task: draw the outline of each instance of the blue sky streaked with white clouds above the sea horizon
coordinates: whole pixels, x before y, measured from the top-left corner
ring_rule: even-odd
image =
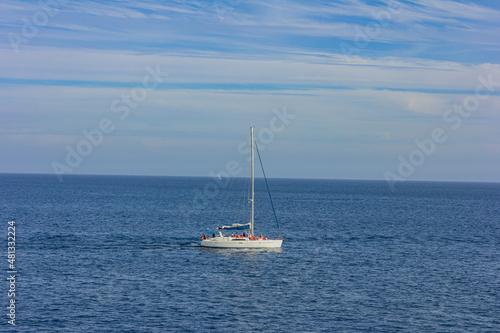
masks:
[[[499,182],[499,17],[493,0],[2,0],[0,172],[239,176],[255,126],[268,177]]]

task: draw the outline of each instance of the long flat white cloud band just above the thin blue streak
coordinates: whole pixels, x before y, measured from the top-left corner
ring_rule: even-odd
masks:
[[[500,76],[500,65],[464,65],[423,59],[289,56],[286,60],[198,56],[143,55],[135,52],[27,48],[19,55],[1,50],[4,78],[141,83],[146,68],[160,65],[167,83],[219,83],[331,86],[343,88],[470,90],[479,76]],[[64,83],[63,83],[64,84]]]

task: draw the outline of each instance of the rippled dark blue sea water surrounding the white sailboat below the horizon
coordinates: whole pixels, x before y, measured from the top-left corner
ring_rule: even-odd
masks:
[[[500,331],[500,184],[269,183],[283,248],[211,250],[212,179],[0,175],[0,331]],[[256,203],[257,233],[276,235],[262,180]]]

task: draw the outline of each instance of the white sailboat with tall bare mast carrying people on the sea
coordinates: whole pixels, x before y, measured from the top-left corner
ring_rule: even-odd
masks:
[[[234,248],[242,248],[242,249],[266,249],[266,248],[281,248],[281,243],[283,243],[283,239],[269,239],[267,237],[255,237],[254,236],[254,207],[255,207],[255,190],[254,190],[254,183],[255,183],[255,173],[254,173],[254,134],[253,134],[253,127],[250,127],[250,170],[251,170],[251,210],[250,210],[250,222],[241,224],[241,223],[233,223],[230,226],[221,226],[217,228],[217,235],[215,232],[213,232],[212,236],[202,236],[201,240],[201,246],[202,247],[212,247],[212,248],[228,248],[228,249],[234,249]],[[258,149],[258,147],[257,147]],[[257,150],[258,152],[258,150]],[[260,159],[260,153],[259,153],[259,159]],[[262,162],[261,162],[262,163]],[[262,171],[264,171],[264,168],[262,168]],[[265,178],[265,173],[264,173],[264,179]],[[267,179],[266,179],[266,185],[267,185]],[[269,186],[267,186],[267,189],[269,191]],[[269,192],[269,198],[271,199],[271,193]],[[274,205],[272,204],[272,199],[271,199],[271,205],[273,207],[274,211]],[[275,217],[276,217],[276,212],[275,212]],[[276,221],[278,219],[276,218]],[[279,224],[278,224],[279,225]],[[238,236],[235,235],[224,235],[222,231],[237,231],[237,232],[242,232],[243,236]]]

